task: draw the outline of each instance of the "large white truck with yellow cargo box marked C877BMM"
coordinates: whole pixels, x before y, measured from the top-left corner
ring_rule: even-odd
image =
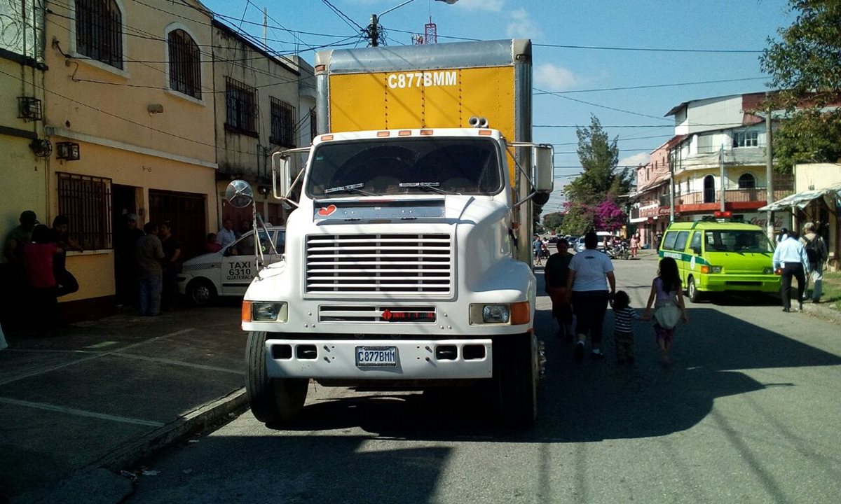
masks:
[[[304,168],[272,156],[297,206],[285,255],[242,305],[254,416],[292,420],[315,380],[486,386],[505,423],[532,424],[532,219],[553,152],[532,144],[531,42],[332,50],[315,72]]]

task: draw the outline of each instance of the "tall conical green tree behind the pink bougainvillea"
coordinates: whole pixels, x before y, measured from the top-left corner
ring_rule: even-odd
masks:
[[[618,168],[618,137],[608,137],[595,116],[590,116],[590,127],[577,128],[578,155],[581,174],[563,188],[567,197],[567,212],[563,219],[563,232],[583,234],[595,226],[595,208],[606,201],[615,201],[613,195],[626,194],[631,189],[632,173]]]

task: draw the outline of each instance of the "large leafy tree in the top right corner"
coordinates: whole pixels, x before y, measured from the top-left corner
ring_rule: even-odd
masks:
[[[770,106],[787,118],[776,132],[781,171],[798,162],[841,159],[841,111],[828,109],[841,96],[841,0],[789,0],[796,13],[780,39],[768,39],[759,60],[776,92]]]

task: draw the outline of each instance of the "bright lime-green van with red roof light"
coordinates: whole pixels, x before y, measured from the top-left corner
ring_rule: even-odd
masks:
[[[660,242],[660,257],[678,263],[691,302],[705,293],[780,291],[772,266],[774,246],[754,224],[700,220],[671,223]]]

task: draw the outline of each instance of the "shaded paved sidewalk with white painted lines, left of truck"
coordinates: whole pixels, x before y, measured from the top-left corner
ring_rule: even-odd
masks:
[[[247,407],[240,307],[123,313],[0,351],[0,503],[118,502],[120,470]]]

